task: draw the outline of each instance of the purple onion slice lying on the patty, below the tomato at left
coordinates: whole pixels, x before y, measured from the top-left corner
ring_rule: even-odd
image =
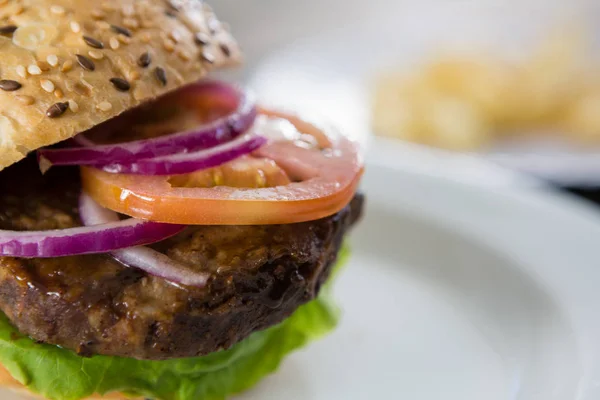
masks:
[[[183,228],[182,225],[130,218],[123,221],[117,219],[93,227],[49,231],[0,231],[0,255],[50,258],[106,253],[159,242],[181,232]]]

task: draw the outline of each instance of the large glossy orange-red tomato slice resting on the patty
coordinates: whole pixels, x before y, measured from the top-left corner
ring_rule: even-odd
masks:
[[[260,184],[248,183],[256,175],[248,175],[247,171],[256,171],[252,164],[257,161],[241,159],[225,170],[235,172],[236,166],[248,162],[246,172],[238,170],[229,181],[221,182],[213,176],[212,184],[202,173],[195,178],[194,174],[134,176],[82,167],[83,188],[111,210],[174,224],[289,224],[324,218],[343,209],[352,200],[363,172],[358,146],[341,135],[328,136],[296,116],[270,110],[261,113],[288,120],[299,132],[311,135],[326,147],[310,148],[292,141],[267,144],[254,154],[263,159],[262,173],[271,179]],[[276,166],[265,167],[269,162],[265,164],[264,159]],[[285,173],[277,172],[281,170]],[[223,186],[240,184],[246,187]]]

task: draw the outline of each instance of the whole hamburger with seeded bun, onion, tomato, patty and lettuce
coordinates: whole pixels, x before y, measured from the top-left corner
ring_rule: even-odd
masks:
[[[222,399],[328,332],[355,143],[209,80],[198,0],[0,0],[0,383]]]

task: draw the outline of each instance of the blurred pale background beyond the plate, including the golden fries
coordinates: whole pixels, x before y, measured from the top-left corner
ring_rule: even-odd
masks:
[[[600,198],[597,0],[214,7],[246,54],[232,74],[265,103],[326,116],[370,154],[477,157]]]

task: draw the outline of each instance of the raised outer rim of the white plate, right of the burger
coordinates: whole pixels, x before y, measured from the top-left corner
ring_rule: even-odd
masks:
[[[400,149],[401,153],[398,153]],[[377,156],[373,156],[374,153]],[[404,157],[405,154],[411,156]],[[542,280],[543,287],[560,299],[559,305],[576,331],[579,355],[584,357],[584,375],[579,380],[576,400],[600,398],[600,344],[596,339],[600,337],[600,318],[597,318],[600,309],[594,307],[593,301],[600,304],[600,291],[595,290],[600,286],[600,270],[594,265],[594,260],[600,260],[600,246],[592,240],[565,242],[569,235],[577,239],[591,234],[600,237],[597,207],[478,157],[432,152],[381,138],[371,142],[367,170],[369,165],[391,169],[402,180],[418,182],[422,186],[421,194],[411,201],[423,213],[429,213],[429,218],[479,243],[483,241],[493,250],[510,254],[528,269],[527,272]],[[478,172],[473,173],[474,170]],[[448,209],[440,206],[441,202],[438,205],[427,203],[424,193],[432,189],[445,190],[446,193],[450,190],[488,207],[497,206],[506,212],[528,215],[531,221],[508,221],[508,225],[519,229],[507,235],[494,229],[491,220],[466,218],[469,215],[481,216],[474,210],[455,209],[454,215],[449,215]],[[434,212],[435,208],[437,211]],[[542,220],[560,222],[560,229],[547,230],[531,225]],[[528,229],[523,229],[525,226]],[[528,243],[539,245],[539,240],[532,239],[532,232],[543,235],[547,243],[545,254],[527,250]],[[587,257],[582,257],[582,254]],[[592,257],[594,255],[596,257]],[[560,260],[567,256],[573,256],[580,264],[562,267],[560,261],[553,264],[553,258]],[[566,282],[570,284],[565,285]]]

